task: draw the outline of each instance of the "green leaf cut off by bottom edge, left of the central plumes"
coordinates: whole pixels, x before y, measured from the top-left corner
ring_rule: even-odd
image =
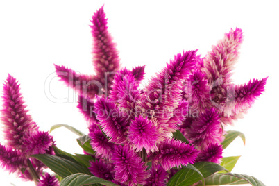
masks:
[[[117,186],[117,184],[104,180],[102,178],[98,178],[96,176],[90,176],[87,174],[81,174],[81,173],[67,176],[62,180],[60,186],[82,186],[82,185],[89,185],[89,184],[96,184],[96,183],[100,183],[102,185],[107,185],[107,186]]]

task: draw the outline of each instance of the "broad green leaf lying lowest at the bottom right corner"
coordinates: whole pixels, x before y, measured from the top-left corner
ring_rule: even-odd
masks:
[[[205,178],[206,185],[237,185],[237,184],[248,184],[253,186],[265,186],[260,180],[253,176],[245,174],[213,174]]]

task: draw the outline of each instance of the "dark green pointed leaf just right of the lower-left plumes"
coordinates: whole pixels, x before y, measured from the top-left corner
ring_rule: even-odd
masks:
[[[43,162],[47,167],[49,167],[49,169],[51,169],[51,171],[55,172],[62,178],[75,173],[91,174],[86,167],[82,167],[75,162],[71,162],[56,155],[36,154],[31,156]]]

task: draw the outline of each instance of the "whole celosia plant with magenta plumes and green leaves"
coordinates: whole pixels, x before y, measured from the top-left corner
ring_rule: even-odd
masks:
[[[230,173],[237,159],[222,156],[235,137],[245,139],[224,129],[251,107],[267,81],[231,83],[241,29],[226,33],[203,58],[197,50],[178,53],[140,90],[144,66],[120,67],[103,7],[93,15],[91,28],[96,75],[77,76],[56,65],[61,81],[79,94],[89,133],[67,125],[51,128],[65,126],[81,135],[77,141],[84,154],[58,149],[53,137],[39,130],[27,114],[19,83],[8,75],[1,110],[3,169],[40,186],[264,185],[253,176]],[[55,174],[45,172],[47,167]]]

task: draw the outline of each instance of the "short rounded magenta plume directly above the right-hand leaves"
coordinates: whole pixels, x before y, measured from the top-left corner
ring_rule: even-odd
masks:
[[[219,114],[211,108],[199,115],[198,119],[192,123],[188,135],[193,144],[203,149],[208,144],[221,143],[222,131]]]

